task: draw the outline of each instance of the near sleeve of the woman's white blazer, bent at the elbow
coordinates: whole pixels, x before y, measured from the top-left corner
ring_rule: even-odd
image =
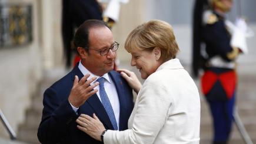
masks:
[[[137,105],[134,108],[132,129],[121,132],[108,130],[104,143],[154,143],[159,131],[167,119],[172,99],[161,82],[147,79],[139,91]]]

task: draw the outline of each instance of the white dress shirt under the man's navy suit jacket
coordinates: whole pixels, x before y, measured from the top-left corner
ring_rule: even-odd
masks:
[[[117,94],[117,89],[115,88],[115,84],[112,81],[112,79],[109,77],[108,73],[105,73],[101,77],[97,76],[97,75],[94,75],[93,73],[88,71],[88,69],[85,68],[84,65],[82,65],[81,61],[79,62],[78,68],[82,72],[83,75],[90,74],[88,79],[91,79],[94,76],[97,77],[97,79],[101,78],[101,77],[103,77],[105,79],[104,88],[105,88],[105,91],[108,95],[108,99],[111,103],[112,109],[114,111],[115,120],[117,121],[117,126],[118,126],[118,129],[119,129],[119,113],[120,113],[119,98],[118,98],[118,94]],[[93,81],[91,83],[91,85],[93,83],[95,83],[97,81],[97,79],[95,81]],[[99,100],[101,101],[101,97],[99,96],[99,85],[96,86],[94,89],[98,89],[97,96],[98,96]],[[70,105],[71,105],[71,103],[70,103]],[[75,112],[77,112],[78,108],[75,108],[74,106],[72,106],[72,108]]]

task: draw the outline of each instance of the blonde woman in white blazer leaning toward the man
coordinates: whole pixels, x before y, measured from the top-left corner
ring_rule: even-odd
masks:
[[[81,115],[78,129],[106,143],[199,143],[200,96],[197,86],[176,58],[179,51],[167,22],[152,20],[135,28],[125,42],[145,79],[134,72],[121,75],[138,94],[124,131],[107,130],[96,115]]]

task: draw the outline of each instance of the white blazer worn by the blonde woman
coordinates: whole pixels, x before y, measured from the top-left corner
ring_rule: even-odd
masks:
[[[138,93],[128,130],[107,130],[105,144],[199,143],[200,96],[178,59],[152,73]]]

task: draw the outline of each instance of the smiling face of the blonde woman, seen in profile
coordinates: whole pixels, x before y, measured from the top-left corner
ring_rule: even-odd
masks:
[[[147,79],[159,66],[158,60],[161,52],[156,52],[155,49],[153,49],[153,51],[141,51],[137,49],[131,52],[131,66],[136,66],[136,68],[139,69],[142,79]]]

